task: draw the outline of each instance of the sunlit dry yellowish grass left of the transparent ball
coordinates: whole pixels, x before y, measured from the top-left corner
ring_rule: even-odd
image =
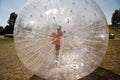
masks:
[[[18,59],[13,39],[0,39],[0,80],[28,80],[31,75]]]

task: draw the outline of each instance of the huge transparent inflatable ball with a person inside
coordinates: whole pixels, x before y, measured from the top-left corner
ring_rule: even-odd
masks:
[[[29,0],[14,42],[22,63],[47,80],[77,80],[93,72],[108,44],[106,18],[93,0]]]

